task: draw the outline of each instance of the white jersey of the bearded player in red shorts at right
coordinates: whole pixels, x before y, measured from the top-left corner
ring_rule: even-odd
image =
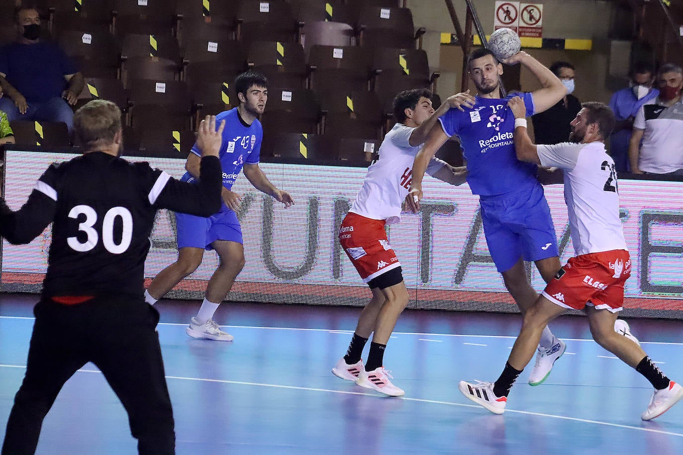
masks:
[[[564,199],[576,255],[628,250],[619,220],[614,160],[604,144],[538,145],[542,166],[564,170]]]

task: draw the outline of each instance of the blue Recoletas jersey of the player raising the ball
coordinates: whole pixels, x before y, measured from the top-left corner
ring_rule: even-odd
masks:
[[[460,138],[473,194],[494,196],[539,185],[536,165],[517,160],[515,154],[514,115],[507,106],[512,96],[522,97],[527,117],[535,113],[531,93],[515,93],[495,99],[477,96],[473,108],[451,109],[438,119],[447,136]]]

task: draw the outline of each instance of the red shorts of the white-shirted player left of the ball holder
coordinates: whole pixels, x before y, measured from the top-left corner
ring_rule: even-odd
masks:
[[[389,246],[385,224],[349,212],[339,228],[339,243],[364,283],[401,265]]]

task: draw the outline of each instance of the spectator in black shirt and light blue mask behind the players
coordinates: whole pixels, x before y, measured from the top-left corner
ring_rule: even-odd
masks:
[[[581,102],[572,95],[574,91],[574,66],[566,61],[556,61],[550,71],[567,88],[567,94],[547,111],[531,117],[533,134],[537,144],[559,144],[567,142],[572,132],[570,123],[581,111]]]

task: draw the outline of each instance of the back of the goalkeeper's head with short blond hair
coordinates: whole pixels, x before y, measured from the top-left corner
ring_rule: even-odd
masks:
[[[113,143],[121,131],[121,109],[107,100],[92,100],[74,114],[76,143],[93,149]]]

